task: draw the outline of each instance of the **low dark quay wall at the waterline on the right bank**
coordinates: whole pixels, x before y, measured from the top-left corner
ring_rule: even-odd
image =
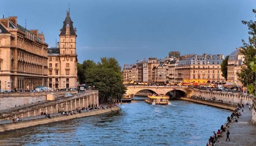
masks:
[[[219,107],[219,108],[223,108],[223,109],[231,110],[231,111],[236,110],[236,105],[227,104],[227,103],[219,103],[219,102],[214,102],[214,101],[209,101],[209,100],[207,101],[207,100],[203,100],[203,99],[193,99],[193,98],[185,98],[185,97],[180,97],[180,99],[191,101],[191,102],[194,102],[194,103],[211,105],[211,106],[214,106],[214,107]]]

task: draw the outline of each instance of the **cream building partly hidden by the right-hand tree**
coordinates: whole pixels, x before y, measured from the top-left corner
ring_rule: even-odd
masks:
[[[227,61],[227,84],[228,85],[237,85],[238,87],[242,87],[241,81],[238,80],[238,75],[241,71],[242,66],[245,66],[243,63],[244,55],[241,54],[241,49],[236,48],[229,55],[229,59]]]

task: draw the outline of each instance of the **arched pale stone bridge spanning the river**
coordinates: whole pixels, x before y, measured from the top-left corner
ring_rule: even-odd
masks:
[[[192,93],[193,89],[182,87],[182,86],[126,86],[127,91],[126,94],[129,95],[136,95],[139,91],[147,90],[151,93],[157,93],[157,94],[163,94],[167,95],[167,93],[172,92],[172,96],[176,97],[176,95],[179,93],[180,96],[186,97],[189,96]]]

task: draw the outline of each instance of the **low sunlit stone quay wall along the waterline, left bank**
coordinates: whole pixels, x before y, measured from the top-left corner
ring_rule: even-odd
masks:
[[[116,112],[119,110],[120,110],[119,107],[115,107],[115,108],[111,108],[111,109],[109,108],[106,110],[97,110],[97,111],[92,111],[92,112],[81,112],[80,114],[77,113],[77,114],[68,115],[68,116],[65,116],[65,115],[52,116],[51,119],[44,117],[44,118],[39,118],[39,119],[21,121],[21,122],[17,122],[17,123],[0,124],[0,133],[12,131],[12,130],[18,130],[18,129],[22,129],[22,128],[40,126],[43,124],[57,123],[57,122],[61,122],[64,120],[70,120],[70,119],[81,118],[81,117],[86,117],[86,116],[106,114],[106,113],[110,113],[110,112]]]

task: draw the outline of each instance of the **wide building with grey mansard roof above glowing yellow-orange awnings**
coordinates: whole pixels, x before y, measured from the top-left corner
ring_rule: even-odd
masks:
[[[188,55],[178,62],[178,78],[183,83],[225,83],[221,63],[223,55]]]

